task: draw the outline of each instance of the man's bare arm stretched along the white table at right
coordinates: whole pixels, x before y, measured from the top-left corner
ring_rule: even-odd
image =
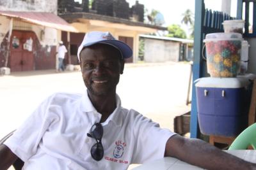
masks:
[[[184,138],[179,135],[168,139],[164,156],[176,157],[205,169],[256,169],[256,164],[223,152],[205,141]]]

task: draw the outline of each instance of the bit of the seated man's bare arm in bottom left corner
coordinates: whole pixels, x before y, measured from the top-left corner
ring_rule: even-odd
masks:
[[[8,169],[18,157],[5,145],[0,145],[0,170]]]

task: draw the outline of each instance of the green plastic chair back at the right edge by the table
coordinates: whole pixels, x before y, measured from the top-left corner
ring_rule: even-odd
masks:
[[[228,150],[246,150],[248,146],[256,149],[256,123],[244,129],[233,141]]]

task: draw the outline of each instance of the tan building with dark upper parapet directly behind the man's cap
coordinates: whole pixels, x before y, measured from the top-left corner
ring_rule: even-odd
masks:
[[[75,27],[78,33],[62,32],[65,42],[69,37],[70,62],[77,64],[76,52],[83,35],[89,31],[109,31],[116,39],[124,41],[133,50],[133,57],[125,62],[137,62],[139,53],[139,35],[156,32],[166,27],[145,24],[144,5],[136,1],[129,7],[125,0],[94,0],[92,7],[88,6],[88,0],[81,4],[74,0],[58,1],[58,15]]]

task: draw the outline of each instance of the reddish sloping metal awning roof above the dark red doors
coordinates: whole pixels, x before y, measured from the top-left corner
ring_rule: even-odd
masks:
[[[61,31],[78,32],[72,25],[58,17],[54,13],[47,12],[26,12],[26,11],[0,11],[0,15],[17,18],[36,25],[60,29]]]

